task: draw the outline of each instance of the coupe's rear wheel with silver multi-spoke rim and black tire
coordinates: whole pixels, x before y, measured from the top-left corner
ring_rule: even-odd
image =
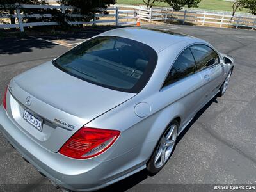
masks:
[[[164,130],[159,138],[152,156],[147,163],[148,175],[155,175],[167,163],[175,149],[177,134],[179,130],[179,122],[173,120]]]

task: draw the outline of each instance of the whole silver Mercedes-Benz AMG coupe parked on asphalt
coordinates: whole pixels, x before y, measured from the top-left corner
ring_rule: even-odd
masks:
[[[154,175],[195,114],[225,93],[233,67],[198,38],[114,29],[14,77],[0,130],[63,189],[93,191],[145,168]]]

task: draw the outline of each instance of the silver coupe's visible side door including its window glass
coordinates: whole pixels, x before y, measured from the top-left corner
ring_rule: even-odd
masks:
[[[218,93],[221,86],[221,76],[223,75],[223,65],[220,63],[216,51],[207,45],[196,44],[191,46],[190,49],[202,78],[201,104],[204,105]]]

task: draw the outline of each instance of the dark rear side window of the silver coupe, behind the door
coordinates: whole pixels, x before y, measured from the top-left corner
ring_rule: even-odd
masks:
[[[163,87],[172,84],[184,77],[188,77],[197,71],[196,63],[190,49],[185,49],[173,63],[173,66],[166,77]]]

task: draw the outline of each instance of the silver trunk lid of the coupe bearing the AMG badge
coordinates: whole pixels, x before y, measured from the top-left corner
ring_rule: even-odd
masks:
[[[15,77],[9,90],[10,118],[31,139],[52,152],[58,152],[83,125],[135,95],[77,79],[51,62]],[[26,103],[28,97],[31,97],[29,106]],[[24,120],[24,109],[43,119],[42,131]]]

